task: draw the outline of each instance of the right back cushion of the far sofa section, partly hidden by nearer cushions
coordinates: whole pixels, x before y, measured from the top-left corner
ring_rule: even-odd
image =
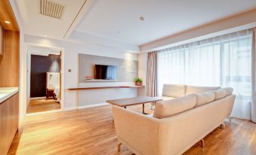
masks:
[[[186,96],[192,93],[205,93],[211,90],[218,90],[221,87],[199,87],[199,86],[187,86]]]

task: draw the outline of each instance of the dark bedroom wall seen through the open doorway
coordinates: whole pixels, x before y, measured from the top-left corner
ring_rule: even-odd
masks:
[[[60,55],[31,55],[30,97],[46,96],[46,72],[60,72]]]

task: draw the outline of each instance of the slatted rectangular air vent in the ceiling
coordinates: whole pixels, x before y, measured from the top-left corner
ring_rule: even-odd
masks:
[[[64,5],[60,5],[57,2],[40,0],[40,14],[42,15],[60,19],[64,8]]]

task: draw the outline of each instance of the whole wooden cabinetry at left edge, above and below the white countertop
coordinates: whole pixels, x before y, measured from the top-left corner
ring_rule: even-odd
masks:
[[[10,23],[5,23],[8,20]],[[20,32],[9,0],[0,0],[0,87],[19,87]],[[4,30],[3,30],[3,29]],[[1,53],[4,53],[1,55]],[[13,93],[11,93],[13,94]],[[2,96],[1,96],[2,97]],[[14,94],[0,102],[0,155],[5,155],[18,129],[19,95]]]

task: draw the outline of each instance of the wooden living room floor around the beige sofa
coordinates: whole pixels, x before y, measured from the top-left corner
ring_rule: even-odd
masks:
[[[133,110],[141,112],[140,106]],[[204,140],[204,148],[195,144],[184,154],[256,154],[256,124],[233,119],[226,122],[226,129],[214,129]],[[106,105],[26,116],[8,154],[132,154],[125,146],[118,153],[117,144],[110,106]]]

